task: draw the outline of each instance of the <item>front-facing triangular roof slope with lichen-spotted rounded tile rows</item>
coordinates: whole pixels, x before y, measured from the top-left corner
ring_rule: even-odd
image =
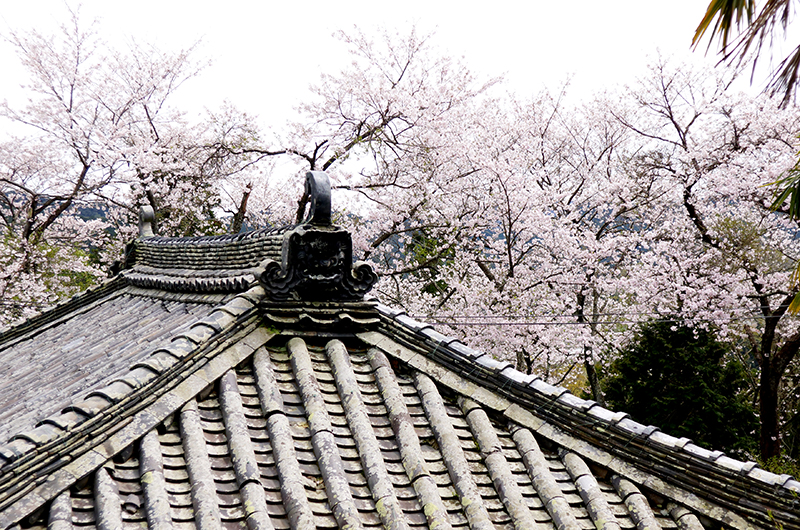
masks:
[[[254,350],[231,346],[238,353],[222,353],[229,369],[205,370],[217,374],[213,384],[187,380],[173,412],[16,522],[62,530],[750,526],[596,465],[525,418],[498,414],[485,404],[494,394],[459,392],[468,382],[451,371],[426,373],[356,338],[248,337]]]

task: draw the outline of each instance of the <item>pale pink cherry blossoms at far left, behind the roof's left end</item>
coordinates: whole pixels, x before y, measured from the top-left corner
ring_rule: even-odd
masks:
[[[141,204],[167,233],[224,231],[220,189],[253,158],[230,147],[255,141],[246,116],[191,125],[169,104],[198,72],[191,50],[115,51],[70,15],[55,36],[9,36],[30,79],[27,105],[0,104],[28,133],[0,143],[0,322],[104,277]]]

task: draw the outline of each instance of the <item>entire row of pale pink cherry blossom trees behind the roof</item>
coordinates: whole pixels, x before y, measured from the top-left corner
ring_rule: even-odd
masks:
[[[352,65],[273,134],[232,106],[188,123],[188,52],[106,53],[76,14],[13,36],[32,98],[0,116],[34,132],[0,144],[3,318],[99,281],[141,204],[169,235],[289,223],[307,197],[280,173],[325,170],[387,303],[598,401],[635,324],[714,327],[749,345],[762,456],[780,450],[798,226],[764,184],[794,166],[796,108],[663,62],[577,107],[567,87],[516,99],[416,31],[339,37]]]

